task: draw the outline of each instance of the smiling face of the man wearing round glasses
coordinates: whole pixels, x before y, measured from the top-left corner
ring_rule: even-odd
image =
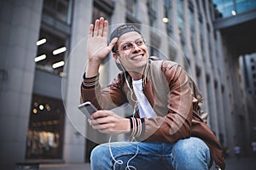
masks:
[[[125,71],[142,74],[148,63],[148,49],[143,37],[137,31],[127,32],[119,37],[117,47],[118,52],[113,57],[125,67]]]

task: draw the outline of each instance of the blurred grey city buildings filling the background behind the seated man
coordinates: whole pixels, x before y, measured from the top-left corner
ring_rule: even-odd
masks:
[[[150,54],[188,63],[185,69],[201,89],[208,125],[224,156],[235,156],[235,146],[241,156],[253,156],[255,0],[0,0],[0,13],[3,169],[14,169],[17,162],[89,162],[96,144],[84,138],[86,121],[70,121],[67,113],[78,112],[86,65],[86,46],[80,42],[100,16],[109,25],[129,22],[155,28],[142,30]],[[184,58],[174,54],[170,38]],[[103,86],[118,71],[104,64]],[[76,121],[85,134],[73,127]]]

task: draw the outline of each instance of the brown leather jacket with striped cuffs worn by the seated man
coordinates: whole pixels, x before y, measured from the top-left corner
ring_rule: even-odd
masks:
[[[104,110],[125,103],[135,107],[136,96],[127,72],[120,73],[107,88],[101,88],[98,78],[84,77],[82,102],[90,100],[98,109]],[[166,60],[161,62],[159,69],[154,61],[149,60],[143,75],[143,94],[158,116],[144,118],[143,133],[137,140],[176,142],[178,139],[197,137],[208,145],[214,161],[224,169],[222,148],[212,130],[200,118],[201,101],[195,98],[197,88],[191,85],[195,86],[177,63]]]

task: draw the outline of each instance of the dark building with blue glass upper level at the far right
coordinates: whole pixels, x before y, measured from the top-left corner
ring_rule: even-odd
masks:
[[[256,2],[253,0],[213,0],[212,2],[216,7],[214,28],[221,35],[225,67],[230,71],[226,79],[230,79],[231,83],[237,83],[232,85],[234,88],[229,94],[233,107],[231,112],[233,130],[236,131],[232,138],[236,144],[241,145],[241,153],[248,156],[252,153],[251,142],[256,138],[256,110],[253,106],[255,98],[252,89],[254,63],[251,59],[255,54]],[[241,88],[244,90],[238,92],[237,89]]]

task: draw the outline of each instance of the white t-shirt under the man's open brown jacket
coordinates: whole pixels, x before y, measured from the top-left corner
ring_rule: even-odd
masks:
[[[140,80],[132,80],[132,85],[134,89],[134,93],[137,97],[138,102],[138,110],[140,117],[154,117],[157,116],[154,112],[152,106],[148,102],[148,99],[143,94],[143,79]]]

